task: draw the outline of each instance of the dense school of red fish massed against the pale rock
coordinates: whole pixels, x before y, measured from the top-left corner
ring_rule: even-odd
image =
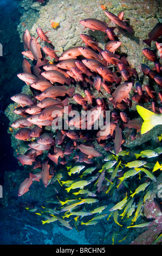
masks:
[[[124,20],[124,12],[119,13],[118,16],[109,11],[105,11],[105,14],[115,26],[126,30],[127,33],[133,32],[133,28],[128,26]],[[122,150],[122,144],[124,144],[122,130],[125,127],[133,128],[131,133],[133,140],[136,133],[141,130],[142,124],[129,116],[132,100],[141,105],[151,101],[152,111],[156,114],[162,113],[161,107],[155,106],[156,103],[162,102],[160,92],[162,68],[159,63],[159,56],[150,48],[142,50],[145,57],[154,62],[154,70],[145,64],[141,65],[141,70],[144,75],[158,84],[159,92],[153,92],[150,86],[142,87],[139,82],[133,88],[134,80],[138,80],[138,74],[135,68],[129,66],[125,56],[115,53],[122,43],[115,40],[114,30],[116,27],[109,27],[107,23],[96,19],[81,20],[80,24],[85,28],[92,29],[92,31],[105,32],[106,38],[108,38],[105,48],[99,47],[98,42],[88,34],[80,34],[85,46],[70,47],[61,56],[57,56],[54,46],[46,35],[48,32],[43,32],[41,28],[37,28],[37,38],[31,36],[28,29],[23,34],[25,51],[22,54],[32,60],[33,65],[30,64],[31,61],[29,62],[27,58],[24,58],[23,72],[17,76],[30,86],[33,97],[24,93],[11,97],[11,100],[18,104],[14,113],[21,115],[11,124],[11,127],[18,129],[15,137],[26,141],[29,146],[24,155],[17,155],[18,161],[23,165],[34,164],[34,169],[41,168],[42,170],[35,174],[29,174],[29,178],[26,178],[20,185],[18,196],[26,193],[33,181],[42,179],[44,187],[47,187],[57,174],[54,171],[56,166],[68,164],[69,156],[74,152],[76,153],[73,160],[76,163],[93,164],[96,157],[103,156],[95,148],[94,143],[98,143],[100,148],[102,147],[107,152],[113,151],[115,155],[118,155]],[[162,24],[159,23],[148,35],[149,39],[144,40],[144,42],[151,46],[151,41],[157,40],[161,34]],[[38,38],[47,42],[49,46],[41,48]],[[156,42],[156,46],[161,58],[160,43]],[[48,56],[50,60],[53,60],[52,64],[47,59]],[[81,85],[86,96],[75,92],[76,83]],[[101,88],[105,90],[105,94],[109,95],[108,100],[104,98]],[[99,94],[97,99],[93,95],[94,91]],[[129,97],[130,92],[133,92],[131,99]],[[69,99],[72,97],[76,102],[75,104],[69,104]],[[105,124],[107,133],[102,136],[101,130],[95,131],[93,125],[101,114],[105,118],[110,105],[113,106],[114,111],[111,111],[110,123]],[[55,111],[63,113],[64,107],[67,107],[67,113],[73,110],[93,112],[92,129],[87,129],[88,120],[82,120],[80,115],[77,120],[75,119],[75,124],[73,118],[66,120],[69,127],[74,125],[79,130],[45,131],[46,126],[51,126],[53,123],[55,118],[53,113]],[[82,130],[82,125],[85,125],[87,130]],[[48,155],[46,159],[42,160],[40,156],[44,151],[48,151]],[[102,173],[98,178],[100,185],[98,184],[97,191],[100,192],[105,173]]]

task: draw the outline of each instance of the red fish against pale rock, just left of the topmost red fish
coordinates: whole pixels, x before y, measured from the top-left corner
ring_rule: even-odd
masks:
[[[98,30],[98,31],[105,32],[106,29],[108,28],[108,25],[106,22],[103,22],[97,19],[85,19],[85,20],[81,20],[79,23],[85,26],[86,28],[92,29],[92,31]]]

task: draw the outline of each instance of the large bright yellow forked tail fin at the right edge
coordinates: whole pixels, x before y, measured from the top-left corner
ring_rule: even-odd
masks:
[[[154,113],[139,105],[137,105],[136,107],[141,118],[144,119],[144,123],[142,123],[142,127],[141,127],[141,134],[144,134],[150,131],[155,126],[151,124],[151,120],[150,120],[152,115],[154,115]]]

